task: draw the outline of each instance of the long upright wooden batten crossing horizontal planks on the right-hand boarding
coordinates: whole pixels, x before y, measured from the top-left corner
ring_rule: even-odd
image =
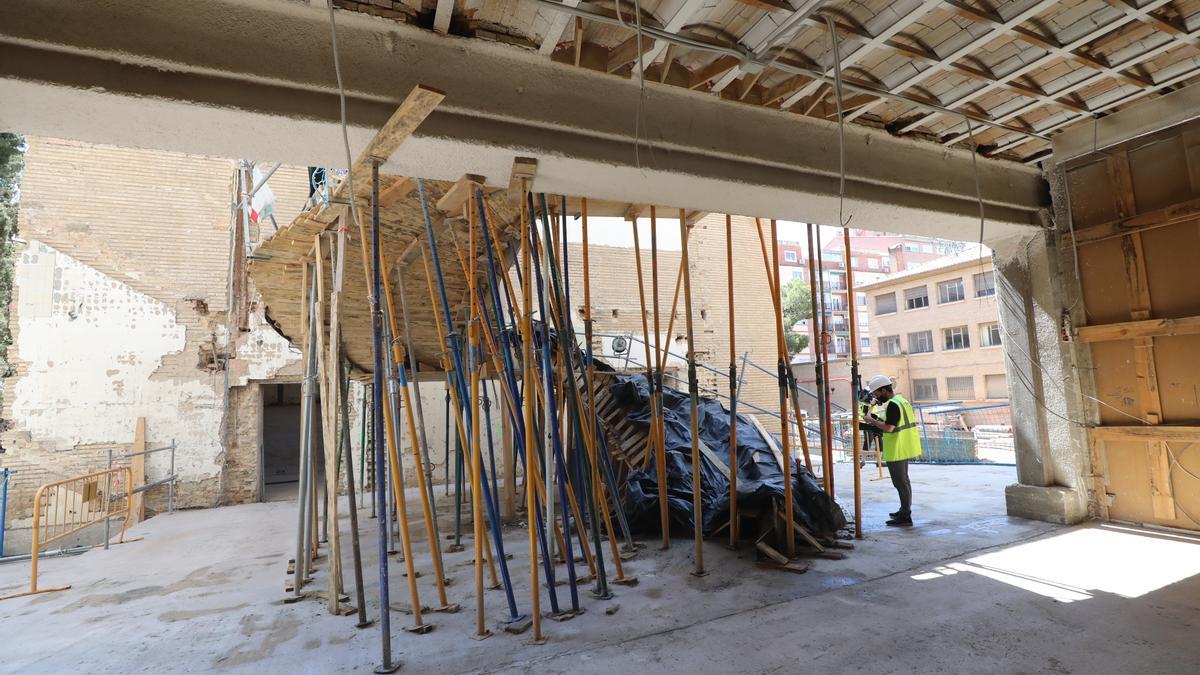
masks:
[[[1108,159],[1108,169],[1116,193],[1117,213],[1122,216],[1138,213],[1128,154],[1110,155]],[[1146,275],[1146,258],[1141,243],[1141,232],[1134,232],[1122,238],[1121,252],[1129,295],[1130,318],[1134,321],[1148,319],[1153,306],[1150,299],[1150,279]],[[1158,371],[1154,365],[1153,338],[1134,338],[1133,364],[1138,382],[1138,401],[1141,405],[1142,417],[1151,424],[1159,424],[1163,419],[1163,404],[1158,392]],[[1150,466],[1150,498],[1154,509],[1154,516],[1175,520],[1175,496],[1171,491],[1171,462],[1165,443],[1157,440],[1150,441],[1146,444],[1146,460]]]

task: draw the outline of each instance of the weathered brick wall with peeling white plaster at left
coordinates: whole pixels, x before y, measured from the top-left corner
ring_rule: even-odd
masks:
[[[42,483],[104,465],[127,450],[137,418],[151,446],[179,444],[176,504],[252,498],[257,448],[228,456],[226,374],[232,160],[30,138],[22,177],[11,351],[0,465],[14,468],[10,522],[31,515]],[[289,183],[296,183],[293,187]],[[271,179],[290,219],[307,195],[305,169]],[[253,305],[253,303],[251,303]],[[299,353],[253,307],[235,335],[229,384],[295,377]],[[241,400],[252,424],[252,401]],[[260,407],[259,407],[260,411]],[[229,462],[230,471],[226,471]],[[169,472],[164,454],[146,479]],[[164,490],[148,494],[158,508]]]

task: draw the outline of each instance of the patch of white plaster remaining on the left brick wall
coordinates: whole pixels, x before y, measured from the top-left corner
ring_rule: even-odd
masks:
[[[22,252],[16,283],[24,368],[13,387],[17,428],[66,450],[130,443],[145,417],[149,443],[179,443],[182,480],[220,472],[222,381],[156,375],[162,358],[186,344],[172,306],[40,241]],[[151,455],[148,480],[164,477],[168,461]]]

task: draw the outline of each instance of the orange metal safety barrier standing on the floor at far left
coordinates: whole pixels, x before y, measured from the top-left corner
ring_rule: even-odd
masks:
[[[47,483],[34,495],[34,542],[30,545],[29,590],[0,597],[0,601],[65,591],[71,586],[37,587],[37,555],[42,546],[61,540],[91,525],[108,522],[113,515],[124,515],[119,543],[125,542],[130,521],[130,488],[133,472],[127,466],[96,471],[55,483]],[[113,495],[118,496],[114,497]],[[114,508],[115,504],[115,508]]]

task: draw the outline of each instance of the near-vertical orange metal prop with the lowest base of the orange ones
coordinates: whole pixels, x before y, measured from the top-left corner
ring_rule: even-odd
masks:
[[[521,279],[528,280],[533,275],[533,268],[530,262],[529,250],[532,246],[530,235],[530,221],[533,220],[533,214],[528,210],[529,202],[529,186],[527,179],[521,179],[521,265],[520,270],[524,270]],[[542,565],[546,567],[546,586],[550,592],[551,602],[557,604],[557,598],[554,593],[554,581],[553,581],[553,566],[550,560],[550,548],[546,540],[546,530],[541,526],[541,510],[538,506],[538,500],[534,490],[536,484],[536,471],[534,468],[534,458],[538,454],[536,435],[534,430],[534,388],[536,388],[538,374],[533,363],[533,293],[530,285],[522,281],[521,282],[521,365],[522,365],[522,380],[523,380],[523,393],[524,398],[522,400],[523,405],[523,428],[522,434],[524,435],[524,472],[526,472],[526,518],[529,521],[529,596],[532,608],[530,616],[533,617],[533,635],[529,637],[528,644],[544,645],[546,644],[546,638],[541,634],[541,592],[538,589],[538,545],[536,534],[534,532],[534,524],[538,524],[538,530],[541,534],[541,550]],[[557,608],[556,608],[557,614]]]

